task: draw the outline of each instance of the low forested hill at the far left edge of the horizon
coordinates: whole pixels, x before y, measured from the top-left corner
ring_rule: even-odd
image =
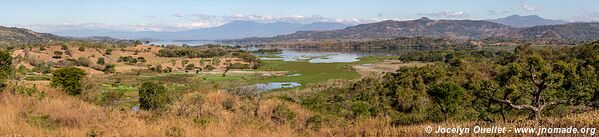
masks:
[[[0,45],[22,43],[45,43],[50,41],[63,41],[69,38],[56,36],[49,33],[38,33],[28,29],[0,26]]]

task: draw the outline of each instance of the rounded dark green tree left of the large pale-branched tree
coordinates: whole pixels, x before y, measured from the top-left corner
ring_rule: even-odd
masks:
[[[450,113],[455,113],[462,102],[465,89],[453,82],[443,82],[429,87],[428,94],[445,115],[445,122]]]

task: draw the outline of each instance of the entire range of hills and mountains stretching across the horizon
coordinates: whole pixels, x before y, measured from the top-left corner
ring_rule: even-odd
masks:
[[[292,33],[296,30],[309,31],[297,31]],[[93,31],[89,33],[88,31],[82,30],[78,32],[79,33],[75,33],[75,31],[73,31],[71,34],[77,34],[80,35],[80,37],[65,37],[50,33],[38,33],[22,28],[0,27],[0,45],[11,45],[15,43],[44,43],[64,40],[120,41],[115,38],[197,40],[234,39],[246,36],[255,37],[224,40],[222,42],[253,44],[290,41],[355,41],[402,37],[427,37],[453,40],[524,40],[531,42],[540,41],[540,43],[551,43],[555,41],[559,43],[576,43],[580,41],[599,40],[599,23],[567,23],[520,28],[484,20],[432,20],[423,17],[416,20],[387,20],[351,27],[346,27],[345,24],[337,23],[295,24],[288,22],[256,23],[249,21],[235,21],[215,28],[181,32],[119,32],[112,30]],[[58,34],[64,35],[64,33]]]

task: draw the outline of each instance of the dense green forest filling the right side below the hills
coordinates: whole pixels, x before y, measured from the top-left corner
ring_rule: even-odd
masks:
[[[294,96],[349,119],[391,117],[395,125],[441,121],[513,122],[599,107],[599,42],[505,51],[426,51],[402,60],[442,62],[367,77],[348,87]]]

